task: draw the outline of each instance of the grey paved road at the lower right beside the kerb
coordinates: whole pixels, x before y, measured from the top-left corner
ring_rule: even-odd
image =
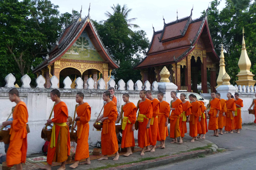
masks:
[[[256,169],[256,128],[245,126],[241,133],[224,134],[219,137],[210,136],[207,140],[226,148],[227,152],[216,153],[204,158],[191,159],[152,170],[170,170],[174,168],[189,170],[255,170]]]

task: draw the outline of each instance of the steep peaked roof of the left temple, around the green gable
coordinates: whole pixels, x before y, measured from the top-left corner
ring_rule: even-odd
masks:
[[[92,41],[95,46],[97,52],[104,59],[105,63],[108,63],[108,67],[110,69],[119,68],[119,65],[114,61],[111,55],[105,48],[105,45],[102,43],[96,28],[90,20],[90,14],[88,13],[87,17],[81,18],[78,17],[74,20],[70,25],[68,25],[61,33],[58,40],[52,46],[52,49],[49,50],[49,54],[47,54],[47,59],[44,60],[40,65],[38,65],[33,72],[44,68],[45,66],[54,63],[56,60],[60,59],[67,50],[76,42],[81,33],[87,31],[88,37]]]

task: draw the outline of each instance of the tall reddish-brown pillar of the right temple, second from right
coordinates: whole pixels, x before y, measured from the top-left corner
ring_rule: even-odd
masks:
[[[203,60],[201,61],[201,85],[203,93],[207,93],[207,59],[206,50],[203,50]]]

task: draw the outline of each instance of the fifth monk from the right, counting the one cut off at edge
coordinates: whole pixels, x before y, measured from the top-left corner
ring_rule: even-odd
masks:
[[[208,129],[213,130],[214,134],[212,136],[218,136],[218,116],[221,111],[221,102],[220,99],[217,99],[215,92],[211,93],[212,100],[209,103],[211,109],[209,111],[210,119]]]

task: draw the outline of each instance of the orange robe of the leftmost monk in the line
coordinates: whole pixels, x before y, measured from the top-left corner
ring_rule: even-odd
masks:
[[[13,122],[10,130],[10,144],[6,154],[8,167],[26,162],[28,110],[26,104],[18,102],[13,111]]]

